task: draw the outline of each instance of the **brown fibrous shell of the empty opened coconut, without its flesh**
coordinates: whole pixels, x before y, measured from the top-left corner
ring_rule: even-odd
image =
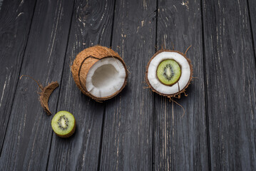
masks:
[[[116,93],[104,98],[98,98],[94,95],[91,95],[91,93],[89,93],[88,90],[86,89],[86,77],[88,75],[88,71],[90,70],[90,68],[96,62],[98,62],[103,58],[116,58],[117,60],[121,61],[121,63],[123,63],[124,68],[126,69],[126,78],[122,88],[118,90]],[[75,60],[73,61],[73,65],[71,66],[71,71],[72,71],[73,79],[76,82],[76,86],[78,86],[78,88],[81,90],[83,94],[88,95],[89,97],[93,98],[96,101],[108,100],[116,96],[118,93],[120,93],[121,90],[123,90],[123,88],[126,86],[126,81],[128,76],[126,63],[124,63],[121,56],[119,56],[118,53],[113,51],[111,48],[107,48],[104,46],[92,46],[78,53]]]

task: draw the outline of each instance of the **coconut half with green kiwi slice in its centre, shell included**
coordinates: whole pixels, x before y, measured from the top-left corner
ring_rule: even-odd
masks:
[[[188,49],[187,49],[188,51]],[[160,50],[148,62],[145,78],[153,92],[168,98],[180,98],[190,85],[193,67],[186,53]],[[187,94],[185,94],[187,96]]]

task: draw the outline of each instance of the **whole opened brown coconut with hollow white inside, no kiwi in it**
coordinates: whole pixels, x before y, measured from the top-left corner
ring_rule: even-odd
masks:
[[[103,46],[93,46],[78,53],[71,71],[82,93],[98,101],[120,93],[128,76],[123,59],[111,48]]]

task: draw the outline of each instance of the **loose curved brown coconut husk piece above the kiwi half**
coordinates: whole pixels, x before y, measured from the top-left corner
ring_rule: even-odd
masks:
[[[22,75],[20,77],[20,79],[23,76],[26,76],[26,75]],[[39,86],[40,90],[37,93],[39,94],[39,101],[41,103],[41,106],[46,111],[47,115],[51,115],[51,111],[48,107],[48,100],[49,100],[53,90],[55,90],[59,86],[58,82],[54,81],[54,82],[49,83],[48,86],[43,87],[39,81],[36,81],[31,76],[26,76],[26,77],[29,77],[32,80],[34,80],[37,83],[37,85]]]

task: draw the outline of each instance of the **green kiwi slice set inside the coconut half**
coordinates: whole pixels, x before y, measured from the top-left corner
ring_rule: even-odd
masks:
[[[172,86],[180,79],[181,71],[179,64],[173,59],[162,61],[156,71],[158,79],[166,86]]]

